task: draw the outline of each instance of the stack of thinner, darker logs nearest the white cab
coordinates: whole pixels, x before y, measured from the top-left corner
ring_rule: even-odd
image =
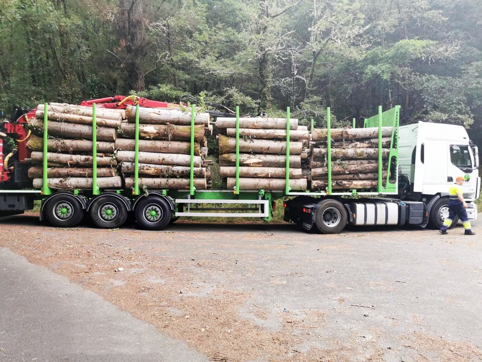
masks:
[[[382,179],[387,180],[392,127],[382,127]],[[332,190],[371,190],[378,185],[378,127],[331,129]],[[312,190],[328,186],[327,129],[313,129],[310,149]]]

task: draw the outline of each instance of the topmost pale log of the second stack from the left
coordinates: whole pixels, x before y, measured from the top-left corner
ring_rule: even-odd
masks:
[[[129,123],[135,123],[135,107],[127,106],[126,116]],[[209,113],[197,112],[194,115],[195,125],[209,125]],[[139,123],[191,125],[190,111],[174,111],[165,108],[139,107]]]

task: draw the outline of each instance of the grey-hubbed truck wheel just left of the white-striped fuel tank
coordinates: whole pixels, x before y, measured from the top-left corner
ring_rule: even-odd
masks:
[[[315,223],[323,234],[338,234],[347,225],[348,212],[336,200],[325,200],[316,211]]]

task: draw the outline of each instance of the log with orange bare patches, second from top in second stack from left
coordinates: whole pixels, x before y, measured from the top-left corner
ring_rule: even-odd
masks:
[[[122,123],[120,125],[121,134],[128,138],[135,138],[135,125],[132,123]],[[191,140],[190,125],[139,125],[139,138],[145,139],[167,139],[178,141]],[[194,126],[194,140],[202,142],[204,140],[204,126]]]

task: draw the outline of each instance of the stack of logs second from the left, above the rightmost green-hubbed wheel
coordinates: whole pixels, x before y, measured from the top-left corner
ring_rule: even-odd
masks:
[[[117,161],[125,187],[134,186],[135,107],[126,109],[128,122],[120,125]],[[191,112],[139,107],[139,186],[145,189],[189,189]],[[210,115],[197,112],[194,119],[194,187],[212,187],[205,129]]]

